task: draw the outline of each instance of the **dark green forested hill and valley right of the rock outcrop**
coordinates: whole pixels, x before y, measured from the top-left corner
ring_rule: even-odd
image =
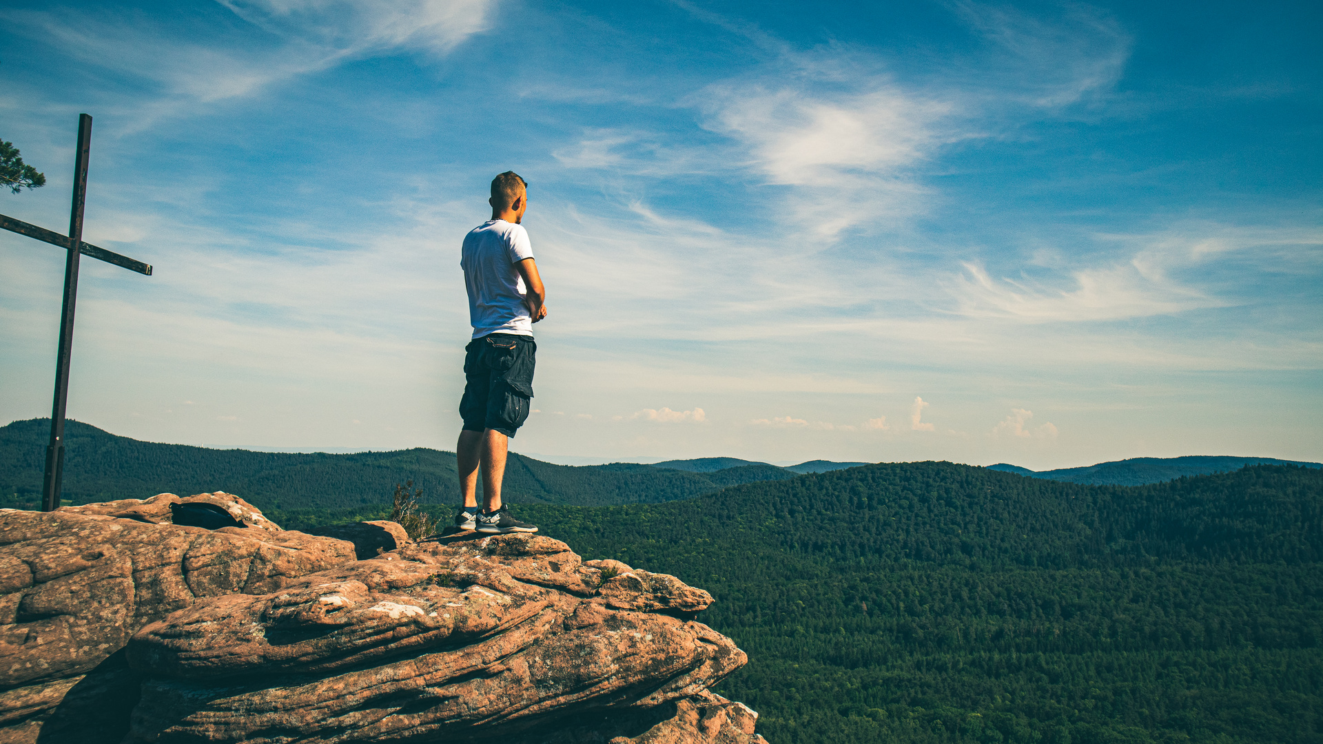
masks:
[[[713,593],[777,744],[1319,744],[1323,471],[1111,487],[873,465],[521,507]]]

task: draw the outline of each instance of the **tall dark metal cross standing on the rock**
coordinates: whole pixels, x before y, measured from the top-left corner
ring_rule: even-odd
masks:
[[[60,351],[56,356],[56,401],[50,412],[50,445],[46,446],[46,471],[41,479],[41,511],[60,508],[60,488],[65,467],[65,402],[69,400],[69,360],[74,343],[74,302],[78,299],[78,257],[90,256],[130,271],[152,275],[152,267],[127,256],[97,248],[82,241],[82,212],[87,200],[87,156],[91,152],[91,116],[78,115],[78,154],[74,158],[74,199],[69,209],[69,237],[22,220],[0,214],[0,228],[58,245],[65,258],[65,303],[60,311]]]

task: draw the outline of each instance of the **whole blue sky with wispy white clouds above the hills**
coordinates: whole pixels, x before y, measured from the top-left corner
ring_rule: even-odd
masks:
[[[0,138],[67,220],[69,414],[452,449],[459,242],[531,183],[550,459],[1323,459],[1316,3],[249,0],[0,8]],[[0,236],[0,418],[58,249]]]

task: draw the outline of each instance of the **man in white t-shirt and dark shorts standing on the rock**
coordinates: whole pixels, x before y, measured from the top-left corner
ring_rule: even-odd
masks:
[[[511,516],[500,500],[509,437],[528,418],[533,397],[533,323],[546,318],[546,290],[533,263],[533,246],[520,222],[528,184],[513,171],[492,179],[492,218],[464,236],[459,265],[468,289],[474,338],[464,348],[464,428],[455,447],[463,507],[455,527],[479,532],[537,532]],[[478,510],[482,466],[486,508]]]

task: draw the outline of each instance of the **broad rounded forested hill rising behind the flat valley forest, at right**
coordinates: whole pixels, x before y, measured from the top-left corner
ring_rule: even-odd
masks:
[[[607,552],[607,543],[632,551],[642,541],[654,555],[685,553],[695,539],[720,535],[721,549],[972,568],[1323,561],[1323,471],[1291,466],[1118,487],[949,462],[880,463],[646,510],[554,514],[598,520],[594,544]],[[609,514],[635,515],[640,531],[610,537],[618,520]]]

